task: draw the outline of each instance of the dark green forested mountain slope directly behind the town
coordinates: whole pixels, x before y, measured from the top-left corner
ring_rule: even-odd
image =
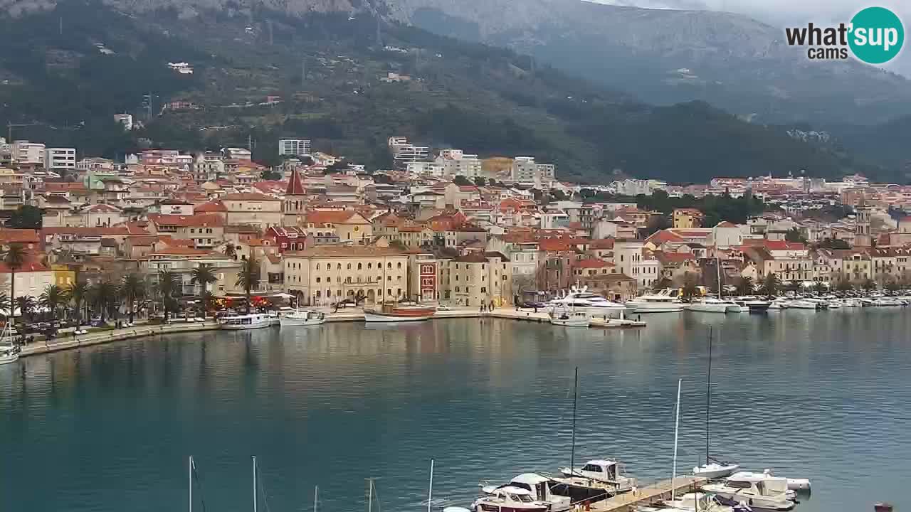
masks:
[[[511,50],[389,22],[388,5],[336,1],[60,0],[0,16],[0,123],[108,157],[250,141],[274,162],[278,138],[301,137],[382,169],[386,139],[405,136],[531,155],[593,182],[880,171],[781,126],[699,101],[651,106]],[[122,131],[118,112],[143,127]]]

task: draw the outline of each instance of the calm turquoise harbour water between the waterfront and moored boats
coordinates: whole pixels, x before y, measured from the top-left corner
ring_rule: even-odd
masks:
[[[579,368],[577,463],[619,457],[670,477],[677,379],[682,470],[705,450],[748,469],[810,477],[807,512],[911,507],[911,312],[649,316],[640,331],[493,319],[336,323],[148,338],[0,367],[5,510],[467,507],[482,480],[569,462]],[[905,492],[903,492],[905,491]],[[438,501],[437,501],[438,500]]]

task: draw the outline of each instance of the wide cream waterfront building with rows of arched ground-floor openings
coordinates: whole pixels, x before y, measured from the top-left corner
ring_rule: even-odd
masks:
[[[332,304],[363,292],[366,303],[409,296],[408,255],[379,245],[318,245],[284,252],[284,284],[301,303]]]

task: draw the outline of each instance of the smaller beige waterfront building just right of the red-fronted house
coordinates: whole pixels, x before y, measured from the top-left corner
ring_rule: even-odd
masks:
[[[459,256],[449,261],[449,297],[460,306],[512,302],[512,266],[500,252]]]

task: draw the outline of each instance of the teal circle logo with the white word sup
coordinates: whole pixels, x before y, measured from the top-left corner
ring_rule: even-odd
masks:
[[[885,7],[867,7],[851,19],[848,45],[855,57],[867,64],[883,64],[895,58],[905,43],[902,20]]]

